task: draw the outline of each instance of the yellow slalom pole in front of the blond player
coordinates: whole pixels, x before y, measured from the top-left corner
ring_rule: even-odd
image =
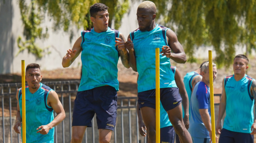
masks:
[[[155,143],[160,143],[160,52],[155,48]]]

